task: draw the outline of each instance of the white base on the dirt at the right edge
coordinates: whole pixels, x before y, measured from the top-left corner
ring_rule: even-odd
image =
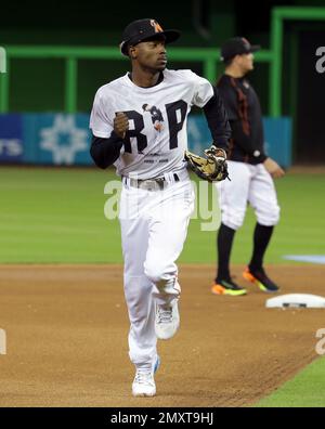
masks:
[[[325,298],[310,294],[289,294],[271,298],[265,303],[268,309],[276,308],[308,308],[308,309],[325,309]]]

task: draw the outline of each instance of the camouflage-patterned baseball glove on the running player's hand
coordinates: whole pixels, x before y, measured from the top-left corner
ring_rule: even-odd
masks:
[[[222,148],[212,145],[205,151],[206,158],[185,151],[185,159],[191,170],[200,179],[209,182],[220,182],[227,179],[226,154]]]

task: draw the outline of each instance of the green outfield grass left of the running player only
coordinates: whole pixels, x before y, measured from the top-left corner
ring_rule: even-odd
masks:
[[[1,168],[0,261],[120,261],[118,224],[103,212],[106,178],[87,169]]]

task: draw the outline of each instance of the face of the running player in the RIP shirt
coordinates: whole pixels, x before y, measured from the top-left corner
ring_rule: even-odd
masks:
[[[136,60],[143,68],[153,72],[165,70],[167,54],[165,39],[156,39],[138,43],[135,47]]]

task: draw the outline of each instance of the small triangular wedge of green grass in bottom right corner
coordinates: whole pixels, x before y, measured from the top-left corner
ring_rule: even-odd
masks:
[[[283,385],[257,407],[325,407],[325,358],[321,358]]]

